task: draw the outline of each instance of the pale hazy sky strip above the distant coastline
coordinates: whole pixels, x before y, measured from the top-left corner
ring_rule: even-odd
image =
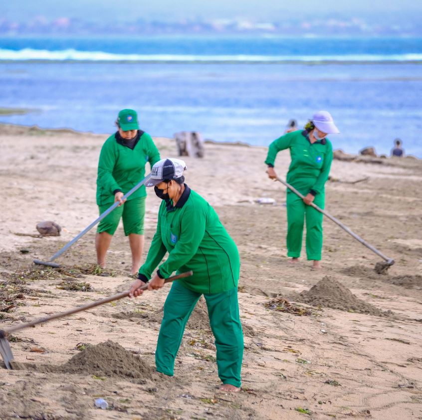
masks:
[[[21,0],[9,2],[1,6],[2,18],[16,22],[25,22],[36,16],[46,20],[60,17],[79,18],[84,21],[180,21],[180,20],[216,20],[247,19],[251,21],[277,21],[279,19],[303,19],[305,17],[324,18],[367,18],[377,19],[383,16],[392,23],[406,23],[406,19],[417,20],[422,13],[422,2],[411,0],[364,0],[339,1],[296,0],[292,3],[274,3],[272,0],[261,0],[259,7],[256,1],[214,0],[211,3],[198,3],[193,0],[161,0],[156,3],[145,0],[126,0],[124,5],[112,0],[73,0],[72,3],[38,0],[36,2]],[[380,22],[381,23],[381,22]]]

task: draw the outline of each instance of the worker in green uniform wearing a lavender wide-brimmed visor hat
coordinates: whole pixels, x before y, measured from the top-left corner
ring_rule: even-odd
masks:
[[[339,133],[339,130],[331,114],[319,111],[305,125],[305,130],[287,133],[274,140],[265,159],[268,177],[276,180],[274,161],[277,153],[290,149],[291,164],[287,183],[305,198],[302,200],[287,189],[287,255],[291,257],[290,262],[298,262],[302,248],[303,219],[306,215],[306,253],[308,260],[313,261],[314,269],[321,268],[323,215],[309,204],[315,203],[324,209],[325,183],[333,160],[333,148],[327,135],[334,133]]]

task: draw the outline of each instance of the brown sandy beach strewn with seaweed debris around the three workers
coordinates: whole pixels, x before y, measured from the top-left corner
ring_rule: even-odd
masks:
[[[1,125],[1,329],[131,284],[121,227],[106,272],[95,269],[95,229],[56,260],[62,268],[32,262],[48,260],[98,216],[106,138]],[[155,141],[162,157],[177,157],[173,139]],[[326,210],[396,263],[377,274],[381,259],[325,219],[323,270],[311,271],[303,256],[288,263],[285,188],[267,178],[266,151],[207,143],[204,159],[186,158],[187,184],[214,207],[240,253],[241,391],[218,392],[202,301],[175,376],[154,372],[166,286],[9,336],[21,369],[0,370],[1,419],[422,419],[422,161],[334,160]],[[289,163],[279,153],[283,179]],[[150,193],[145,256],[159,205]],[[41,220],[59,223],[61,235],[37,237]],[[108,410],[94,406],[99,397]]]

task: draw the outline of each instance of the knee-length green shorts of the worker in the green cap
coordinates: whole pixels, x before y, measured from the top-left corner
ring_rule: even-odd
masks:
[[[100,221],[100,224],[97,227],[97,232],[107,232],[110,235],[113,235],[119,225],[120,218],[122,218],[126,236],[131,233],[143,235],[145,199],[146,197],[139,197],[137,199],[128,200],[125,204],[116,207]],[[98,206],[100,214],[104,213],[104,211],[109,207],[110,205]]]

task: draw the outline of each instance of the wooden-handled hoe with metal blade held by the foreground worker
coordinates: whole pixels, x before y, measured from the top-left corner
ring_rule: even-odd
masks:
[[[192,271],[187,271],[185,273],[176,274],[175,276],[169,277],[165,279],[165,283],[170,283],[173,280],[177,280],[179,278],[189,277],[193,274]],[[147,290],[148,285],[140,287],[141,290]],[[104,305],[104,303],[112,302],[114,300],[123,299],[124,297],[129,296],[129,290],[125,292],[119,293],[117,295],[109,296],[104,299],[97,300],[95,302],[87,303],[86,305],[78,306],[73,309],[69,309],[65,312],[60,312],[58,314],[50,315],[44,318],[36,319],[35,321],[25,322],[23,324],[18,324],[14,327],[8,328],[7,330],[0,330],[0,353],[3,359],[4,365],[6,369],[13,369],[13,354],[10,349],[9,342],[7,341],[7,335],[13,333],[15,331],[23,330],[24,328],[33,327],[38,324],[44,324],[48,321],[52,321],[53,319],[63,318],[68,315],[76,314],[77,312],[86,311],[87,309],[95,308],[99,305]]]

